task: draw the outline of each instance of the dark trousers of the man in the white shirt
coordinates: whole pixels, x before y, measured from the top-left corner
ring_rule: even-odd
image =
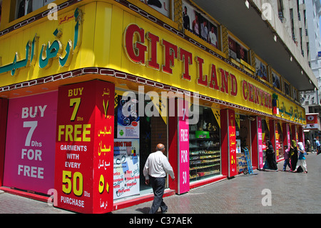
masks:
[[[155,214],[158,211],[158,207],[161,207],[162,212],[166,212],[168,207],[163,202],[166,177],[149,176],[149,180],[154,192],[154,201],[149,214]]]

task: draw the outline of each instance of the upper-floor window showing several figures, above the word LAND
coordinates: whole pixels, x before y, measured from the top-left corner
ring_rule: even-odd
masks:
[[[218,26],[185,1],[183,1],[183,27],[218,48]]]

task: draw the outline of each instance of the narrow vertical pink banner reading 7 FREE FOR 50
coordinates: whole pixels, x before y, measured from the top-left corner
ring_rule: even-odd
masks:
[[[178,194],[190,190],[188,101],[178,99]]]

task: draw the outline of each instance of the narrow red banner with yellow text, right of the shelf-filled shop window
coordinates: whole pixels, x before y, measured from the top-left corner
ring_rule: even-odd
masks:
[[[236,128],[235,128],[235,113],[228,110],[228,133],[230,139],[230,177],[238,174],[236,169]]]

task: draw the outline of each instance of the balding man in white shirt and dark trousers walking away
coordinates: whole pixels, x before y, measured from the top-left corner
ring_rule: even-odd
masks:
[[[145,183],[149,184],[151,181],[154,192],[154,201],[149,214],[155,214],[158,211],[158,207],[161,207],[162,213],[167,212],[168,209],[163,201],[166,173],[170,174],[173,180],[175,179],[175,175],[167,157],[163,154],[164,152],[165,146],[158,144],[156,152],[149,154],[143,169],[143,174],[146,179]]]

